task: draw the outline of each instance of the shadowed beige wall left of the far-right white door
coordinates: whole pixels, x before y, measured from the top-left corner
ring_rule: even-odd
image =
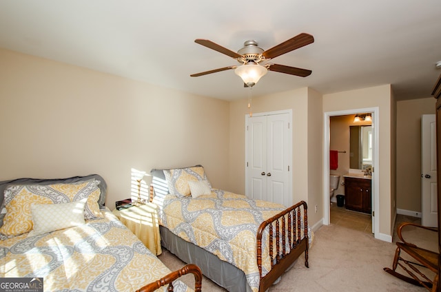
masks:
[[[397,209],[421,212],[421,115],[435,114],[435,98],[397,103]]]

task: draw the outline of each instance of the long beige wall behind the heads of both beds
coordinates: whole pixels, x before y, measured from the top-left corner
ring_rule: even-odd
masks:
[[[0,64],[0,180],[101,174],[111,209],[132,168],[200,163],[229,187],[227,101],[8,50]]]

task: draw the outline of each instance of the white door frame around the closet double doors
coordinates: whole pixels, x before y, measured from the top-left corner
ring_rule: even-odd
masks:
[[[271,116],[275,114],[288,114],[288,123],[289,123],[289,133],[288,133],[288,159],[289,159],[289,176],[288,176],[288,192],[289,192],[289,202],[292,205],[294,198],[292,194],[292,110],[278,110],[273,112],[258,112],[253,113],[253,116],[249,116],[249,114],[245,114],[245,195],[248,194],[248,177],[247,177],[247,161],[248,161],[248,135],[247,135],[247,127],[248,127],[248,118],[252,118],[254,116]],[[289,206],[287,206],[289,207]]]

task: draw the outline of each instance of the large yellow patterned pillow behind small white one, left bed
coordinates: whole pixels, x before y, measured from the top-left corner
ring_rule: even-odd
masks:
[[[0,233],[17,236],[32,230],[31,206],[34,204],[61,204],[87,198],[85,219],[101,218],[98,200],[99,180],[54,185],[10,185],[5,190],[6,215]]]

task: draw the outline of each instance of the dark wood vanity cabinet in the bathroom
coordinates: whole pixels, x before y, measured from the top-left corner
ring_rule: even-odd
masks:
[[[345,177],[346,209],[371,214],[371,180]]]

